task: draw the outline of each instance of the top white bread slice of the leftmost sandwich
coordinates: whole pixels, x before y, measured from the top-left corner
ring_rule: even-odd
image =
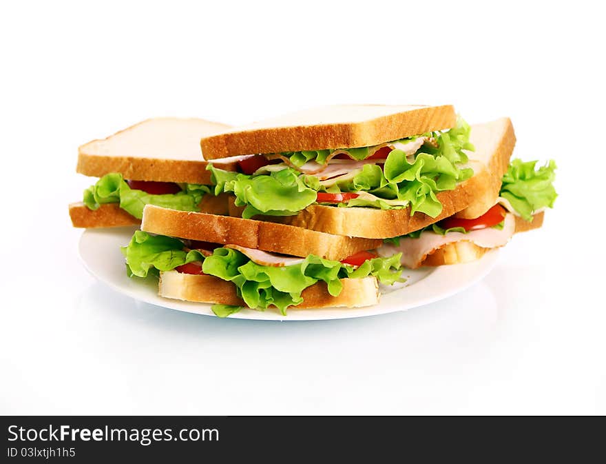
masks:
[[[125,179],[136,181],[209,184],[200,137],[228,128],[204,119],[147,119],[107,139],[82,145],[76,171],[94,177],[119,172]],[[234,170],[235,163],[222,168]]]

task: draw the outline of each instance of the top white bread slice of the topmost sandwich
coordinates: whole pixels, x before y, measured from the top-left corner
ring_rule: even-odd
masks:
[[[205,159],[379,145],[452,128],[451,105],[335,105],[311,108],[202,137]]]

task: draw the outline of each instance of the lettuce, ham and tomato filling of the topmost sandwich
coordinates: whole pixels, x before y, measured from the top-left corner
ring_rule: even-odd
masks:
[[[372,147],[283,152],[239,162],[242,172],[209,164],[214,194],[231,192],[242,217],[290,216],[313,203],[383,210],[411,208],[435,217],[437,193],[473,175],[465,150],[470,126],[457,126]]]

